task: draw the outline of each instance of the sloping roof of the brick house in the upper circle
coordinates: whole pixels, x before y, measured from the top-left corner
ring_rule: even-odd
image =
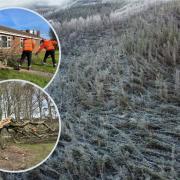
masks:
[[[31,33],[28,33],[28,32],[23,32],[23,31],[20,31],[20,30],[16,30],[16,29],[12,29],[12,28],[9,28],[9,27],[5,27],[5,26],[1,26],[0,25],[0,31],[4,31],[4,32],[9,32],[9,33],[15,33],[15,34],[18,34],[20,36],[31,36],[33,38],[41,38],[37,35],[34,35],[34,34],[31,34]]]

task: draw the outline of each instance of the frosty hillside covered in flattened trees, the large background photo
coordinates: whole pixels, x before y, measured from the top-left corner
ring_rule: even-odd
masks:
[[[31,6],[61,42],[47,91],[62,133],[39,168],[3,179],[180,179],[180,1]]]

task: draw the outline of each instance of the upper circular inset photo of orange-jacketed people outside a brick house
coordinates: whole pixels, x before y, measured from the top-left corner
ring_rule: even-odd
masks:
[[[27,80],[45,88],[60,57],[60,42],[46,19],[24,8],[0,9],[0,80]]]

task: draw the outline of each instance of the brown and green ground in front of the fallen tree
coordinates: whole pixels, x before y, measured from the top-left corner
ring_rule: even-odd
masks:
[[[43,161],[54,147],[54,143],[12,144],[0,149],[0,169],[19,171],[31,168]]]

